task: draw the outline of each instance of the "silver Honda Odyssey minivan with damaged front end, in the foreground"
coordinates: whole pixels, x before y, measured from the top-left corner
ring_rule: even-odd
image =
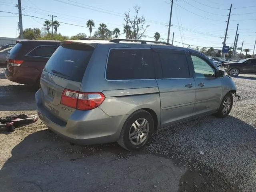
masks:
[[[236,86],[204,54],[135,41],[62,42],[36,92],[46,126],[72,143],[137,150],[157,130],[229,114]]]

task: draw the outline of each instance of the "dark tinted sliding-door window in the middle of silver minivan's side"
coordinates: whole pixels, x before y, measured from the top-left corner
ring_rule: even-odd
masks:
[[[160,53],[163,78],[189,78],[188,62],[185,53]]]

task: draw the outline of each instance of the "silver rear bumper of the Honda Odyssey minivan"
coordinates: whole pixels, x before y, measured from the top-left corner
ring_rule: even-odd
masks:
[[[36,92],[36,108],[39,118],[53,132],[75,144],[102,144],[116,142],[129,115],[110,117],[100,108],[74,110],[68,121],[54,116],[42,104],[42,90]]]

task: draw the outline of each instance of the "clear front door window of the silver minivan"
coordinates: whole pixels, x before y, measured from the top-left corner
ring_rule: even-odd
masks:
[[[191,55],[195,77],[215,77],[214,69],[202,58],[198,56]]]

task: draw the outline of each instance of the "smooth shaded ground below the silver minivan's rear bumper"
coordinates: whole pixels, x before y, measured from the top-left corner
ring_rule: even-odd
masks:
[[[26,136],[0,170],[1,192],[178,191],[185,173],[172,160],[116,143],[76,146],[42,130]]]

